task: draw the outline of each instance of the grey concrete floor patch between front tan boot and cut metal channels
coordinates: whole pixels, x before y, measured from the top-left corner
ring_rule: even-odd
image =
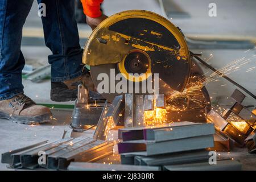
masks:
[[[52,110],[52,113],[56,120],[42,125],[20,125],[0,119],[0,154],[44,140],[60,139],[64,130],[69,130],[72,111]],[[1,163],[0,170],[7,170],[6,164]]]

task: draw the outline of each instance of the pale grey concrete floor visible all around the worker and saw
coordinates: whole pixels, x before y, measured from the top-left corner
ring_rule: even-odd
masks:
[[[133,2],[133,3],[130,3]],[[190,18],[174,18],[171,21],[179,26],[185,35],[189,35],[195,39],[202,35],[213,36],[230,36],[237,38],[256,38],[255,16],[255,1],[238,1],[238,0],[226,0],[216,1],[217,3],[217,17],[210,18],[208,16],[208,4],[211,1],[196,0],[196,1],[174,1],[183,10],[187,11]],[[193,4],[192,4],[193,3]],[[195,5],[196,6],[193,6]],[[158,1],[155,0],[105,0],[103,5],[104,11],[107,15],[118,13],[119,11],[128,9],[144,9],[154,11],[155,13],[162,14],[162,10],[158,5]],[[241,11],[245,10],[246,11]],[[214,25],[214,26],[213,26]],[[91,30],[86,25],[79,25],[81,38],[86,38],[90,34]],[[31,31],[32,30],[32,31]],[[33,34],[32,34],[33,33]],[[32,7],[30,15],[24,27],[24,36],[39,38],[39,41],[43,39],[42,23],[36,13],[36,3]],[[26,38],[24,38],[26,39]],[[23,41],[24,41],[23,39]],[[31,47],[32,46],[32,47]],[[31,42],[26,43],[26,46],[22,47],[24,56],[26,57],[27,64],[36,62],[38,65],[47,64],[47,56],[51,53],[46,47],[42,47],[40,44],[35,46]],[[241,85],[250,89],[251,92],[256,94],[255,77],[256,72],[246,72],[248,68],[255,66],[255,49],[251,50],[192,50],[196,53],[203,53],[203,58],[209,59],[210,54],[213,55],[209,59],[208,63],[213,67],[222,68],[226,64],[231,63],[235,59],[241,59],[242,57],[253,58],[249,64],[246,64],[237,72],[231,73],[229,76],[239,82]],[[34,63],[35,64],[35,63]],[[255,70],[255,69],[254,69]],[[51,103],[49,100],[50,81],[44,81],[39,84],[34,84],[31,81],[23,80],[25,86],[25,93],[38,103]],[[221,86],[224,85],[224,86]],[[35,89],[36,88],[36,89]],[[216,98],[226,98],[230,96],[235,87],[229,84],[225,80],[220,79],[216,82],[211,82],[207,85],[207,89],[212,97],[212,101]],[[57,103],[59,104],[59,103]],[[73,104],[73,102],[65,102],[63,104]],[[256,105],[254,100],[250,97],[246,98],[245,105]],[[71,110],[56,110],[53,109],[53,117],[57,120],[51,123],[45,123],[44,125],[28,126],[19,125],[0,119],[0,154],[27,146],[32,143],[40,142],[42,140],[57,140],[61,138],[64,130],[69,129],[69,123],[71,122]],[[92,131],[88,135],[92,135]],[[256,170],[256,155],[247,153],[246,148],[235,148],[230,154],[222,152],[221,155],[229,155],[234,159],[240,159],[243,163],[243,169]],[[6,164],[0,164],[0,170],[6,170]]]

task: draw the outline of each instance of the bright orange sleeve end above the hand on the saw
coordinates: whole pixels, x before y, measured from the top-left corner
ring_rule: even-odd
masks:
[[[104,0],[81,0],[82,7],[84,8],[84,14],[92,18],[98,18],[101,16],[101,3]]]

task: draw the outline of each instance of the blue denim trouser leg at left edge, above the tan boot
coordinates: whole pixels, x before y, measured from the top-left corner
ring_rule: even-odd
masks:
[[[33,0],[0,1],[0,100],[23,93],[22,27]]]

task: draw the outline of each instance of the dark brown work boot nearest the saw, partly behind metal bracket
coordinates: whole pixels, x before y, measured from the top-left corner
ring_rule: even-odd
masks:
[[[77,86],[83,84],[89,90],[89,100],[105,100],[94,88],[90,72],[63,82],[51,82],[51,100],[56,102],[75,101]]]

